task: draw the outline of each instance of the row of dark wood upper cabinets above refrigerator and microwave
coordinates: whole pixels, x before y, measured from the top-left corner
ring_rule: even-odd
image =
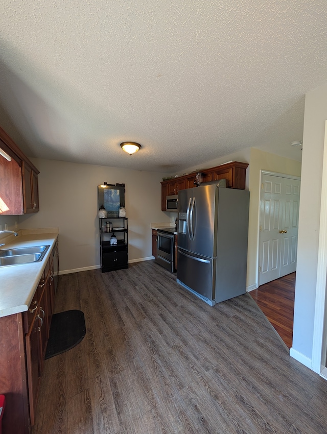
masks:
[[[245,175],[248,163],[232,161],[231,163],[201,170],[203,182],[226,179],[228,188],[245,189]],[[161,182],[161,210],[166,211],[166,197],[177,195],[179,190],[194,187],[196,172]]]

